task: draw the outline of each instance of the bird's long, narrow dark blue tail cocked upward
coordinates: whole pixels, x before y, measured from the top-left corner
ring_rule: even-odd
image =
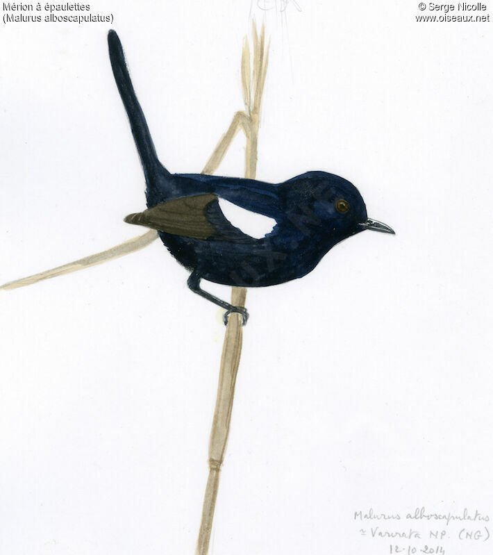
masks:
[[[156,190],[156,187],[159,187],[159,182],[162,181],[163,177],[169,176],[169,172],[158,160],[151,133],[149,133],[149,127],[147,126],[140,103],[135,96],[132,81],[128,74],[122,43],[117,33],[113,30],[108,33],[108,49],[110,51],[113,75],[115,76],[118,91],[130,120],[133,138],[142,167],[144,168],[144,176],[149,193],[149,189]]]

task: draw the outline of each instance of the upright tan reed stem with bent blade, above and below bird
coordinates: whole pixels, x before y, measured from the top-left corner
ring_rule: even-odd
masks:
[[[219,161],[222,160],[224,154],[226,154],[226,150],[241,127],[247,139],[245,148],[245,177],[249,179],[255,179],[256,176],[260,101],[266,72],[267,55],[265,53],[265,31],[262,27],[259,39],[255,24],[253,24],[253,79],[250,78],[250,53],[247,38],[245,38],[242,52],[242,85],[247,113],[237,112],[235,114],[231,126],[219,141],[215,151],[215,154],[217,153],[217,159],[219,159]],[[213,154],[210,160],[212,160],[214,156]],[[206,167],[208,166],[206,165]],[[247,290],[245,288],[233,287],[231,304],[235,306],[244,306],[246,297]],[[216,407],[209,440],[209,476],[206,493],[203,498],[196,555],[207,555],[209,549],[217,490],[219,488],[219,473],[221,472],[221,466],[224,462],[224,453],[226,452],[226,445],[228,442],[236,376],[242,353],[242,340],[242,317],[240,314],[232,313],[228,318],[228,325],[226,326],[226,334],[224,336],[221,367],[219,370],[219,385],[217,386]]]

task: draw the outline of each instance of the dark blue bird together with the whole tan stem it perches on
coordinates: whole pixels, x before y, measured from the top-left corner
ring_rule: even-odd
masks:
[[[209,476],[197,540],[197,554],[207,555],[219,472],[231,423],[242,326],[249,318],[244,306],[247,288],[269,287],[302,278],[317,267],[332,247],[362,231],[390,234],[394,231],[368,217],[362,195],[353,183],[341,176],[309,171],[280,183],[256,179],[260,98],[269,52],[263,26],[259,36],[253,24],[253,71],[247,38],[242,51],[246,109],[235,113],[230,128],[201,174],[173,174],[162,165],[133,89],[122,43],[112,30],[108,32],[108,50],[146,183],[147,208],[127,215],[124,221],[150,231],[108,251],[6,283],[0,289],[22,287],[76,272],[141,249],[159,237],[189,272],[188,288],[225,310],[226,333],[210,431]],[[215,169],[240,129],[247,140],[244,178],[215,175]],[[256,224],[245,226],[252,218]],[[202,280],[231,286],[231,302],[203,290]]]

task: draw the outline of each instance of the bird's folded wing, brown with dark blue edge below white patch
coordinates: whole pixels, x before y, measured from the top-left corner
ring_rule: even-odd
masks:
[[[243,233],[226,218],[219,206],[219,198],[212,193],[172,199],[143,212],[128,215],[125,222],[192,239],[242,243],[257,240],[256,237]],[[276,224],[274,219],[271,222],[274,223],[267,232]]]

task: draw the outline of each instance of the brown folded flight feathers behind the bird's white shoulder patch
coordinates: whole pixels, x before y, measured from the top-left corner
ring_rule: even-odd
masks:
[[[208,239],[217,234],[206,217],[206,207],[217,200],[215,194],[197,194],[194,197],[172,199],[144,212],[130,214],[127,224],[165,231],[173,235],[183,235],[192,239]]]

